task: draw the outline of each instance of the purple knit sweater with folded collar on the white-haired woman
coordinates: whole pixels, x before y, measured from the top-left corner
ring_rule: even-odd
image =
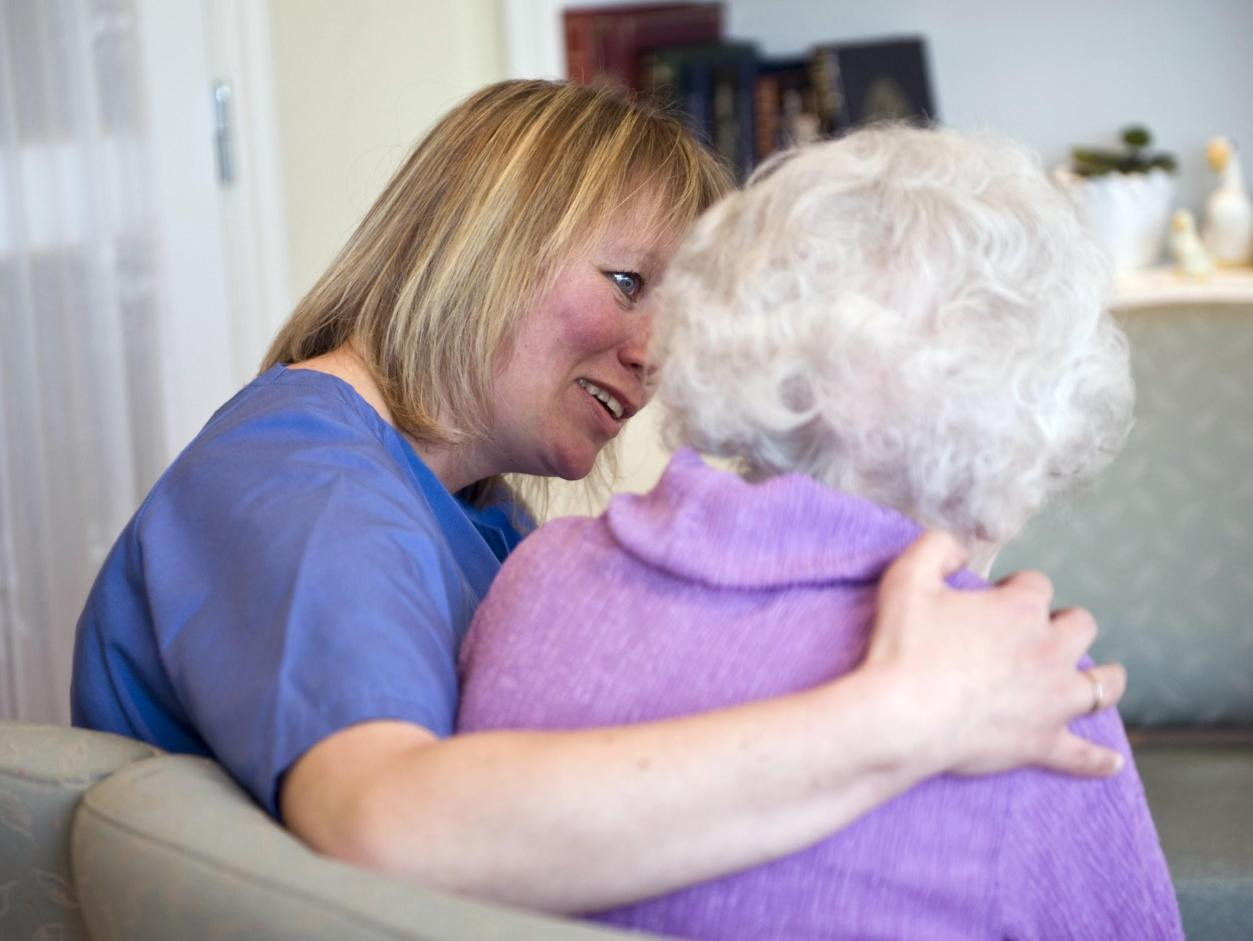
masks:
[[[648,495],[509,559],[462,647],[460,728],[643,722],[847,673],[918,531],[808,477],[749,485],[680,452]],[[933,778],[808,850],[594,917],[744,941],[1182,937],[1118,714],[1073,728],[1126,769]]]

